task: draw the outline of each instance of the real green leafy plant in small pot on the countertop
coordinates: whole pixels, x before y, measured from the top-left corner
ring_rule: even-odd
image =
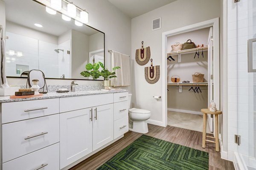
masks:
[[[116,77],[116,72],[114,72],[116,69],[119,69],[121,67],[117,66],[112,68],[112,71],[109,71],[107,68],[105,68],[104,64],[102,62],[99,62],[100,67],[102,68],[102,71],[99,73],[102,77],[104,77],[103,86],[111,86],[111,80],[112,78]]]

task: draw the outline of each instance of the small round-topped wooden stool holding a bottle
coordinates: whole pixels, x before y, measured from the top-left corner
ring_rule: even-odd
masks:
[[[221,111],[211,112],[209,109],[201,109],[201,112],[204,114],[204,123],[203,123],[203,144],[202,147],[205,148],[205,142],[215,143],[216,152],[219,151],[219,141],[218,141],[218,115],[221,114]],[[207,114],[215,115],[215,137],[206,136],[206,122],[207,122]],[[215,141],[207,140],[206,137],[215,139]]]

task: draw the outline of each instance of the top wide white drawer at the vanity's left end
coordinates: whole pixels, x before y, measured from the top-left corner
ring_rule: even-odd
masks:
[[[59,113],[59,99],[2,103],[2,123]]]

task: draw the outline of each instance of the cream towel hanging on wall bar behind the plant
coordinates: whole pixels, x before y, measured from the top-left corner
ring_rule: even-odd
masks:
[[[122,54],[116,51],[112,52],[112,68],[119,66],[117,69],[116,78],[113,78],[111,85],[113,87],[129,86],[130,82],[130,57],[126,54]]]

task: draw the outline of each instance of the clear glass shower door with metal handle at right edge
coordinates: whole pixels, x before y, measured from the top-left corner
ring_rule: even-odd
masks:
[[[236,3],[238,153],[256,170],[256,0]]]

